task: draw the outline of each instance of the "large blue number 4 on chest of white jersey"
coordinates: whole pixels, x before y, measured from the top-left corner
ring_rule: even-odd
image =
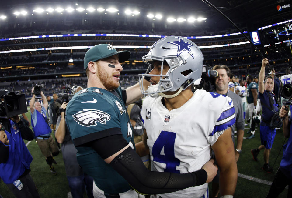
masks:
[[[164,172],[179,173],[179,159],[174,156],[176,133],[161,131],[152,148],[153,161],[166,164]],[[162,150],[164,149],[164,150]],[[164,155],[161,152],[164,151]]]

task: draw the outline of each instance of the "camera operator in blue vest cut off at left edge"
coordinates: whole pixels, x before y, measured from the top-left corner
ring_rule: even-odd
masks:
[[[15,93],[0,90],[0,96],[5,95]],[[0,177],[16,197],[40,197],[30,176],[33,157],[23,141],[33,140],[33,131],[18,115],[0,122]]]

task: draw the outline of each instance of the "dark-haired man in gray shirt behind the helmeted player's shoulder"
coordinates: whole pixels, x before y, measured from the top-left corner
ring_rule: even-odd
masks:
[[[232,99],[234,109],[235,109],[235,124],[231,126],[232,131],[232,140],[235,145],[234,140],[234,131],[235,127],[237,129],[237,145],[235,149],[235,160],[238,161],[239,154],[241,153],[241,147],[242,147],[242,140],[243,140],[243,134],[244,134],[244,119],[243,119],[243,106],[240,96],[238,96],[236,93],[230,91],[228,89],[228,83],[230,81],[230,74],[231,71],[226,65],[215,65],[213,67],[213,70],[216,70],[218,72],[218,77],[215,79],[215,87],[216,87],[216,93],[220,93],[222,95],[228,96]],[[216,157],[216,156],[215,156]],[[219,170],[218,170],[219,171]],[[219,194],[219,174],[217,174],[213,181],[212,181],[212,196],[217,197]]]

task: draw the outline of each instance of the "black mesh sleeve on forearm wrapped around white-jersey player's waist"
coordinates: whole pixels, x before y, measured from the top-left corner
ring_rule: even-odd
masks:
[[[207,180],[205,170],[184,174],[150,171],[130,147],[116,156],[110,165],[141,194],[171,193],[201,185]]]

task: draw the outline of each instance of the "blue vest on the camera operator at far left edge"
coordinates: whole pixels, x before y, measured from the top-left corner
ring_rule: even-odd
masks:
[[[30,168],[30,163],[33,161],[33,157],[21,138],[17,124],[9,121],[11,133],[5,130],[9,140],[9,157],[6,163],[0,163],[0,177],[6,184],[16,181],[25,169]]]

